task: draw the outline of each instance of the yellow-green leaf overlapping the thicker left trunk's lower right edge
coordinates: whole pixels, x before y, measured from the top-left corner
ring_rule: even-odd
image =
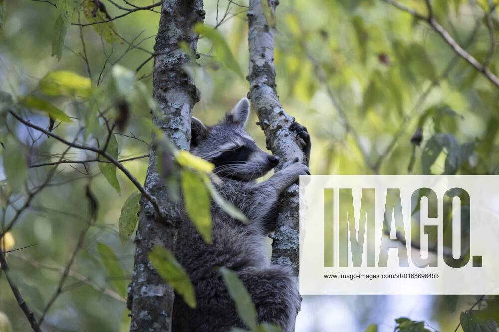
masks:
[[[175,292],[182,296],[184,302],[189,307],[196,308],[194,287],[187,272],[175,259],[172,252],[162,247],[154,247],[149,253],[149,260],[161,278],[165,279]]]

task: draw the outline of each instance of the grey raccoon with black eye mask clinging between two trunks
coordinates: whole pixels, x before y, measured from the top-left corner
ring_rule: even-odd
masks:
[[[192,223],[181,223],[176,256],[195,288],[197,308],[190,309],[176,296],[173,310],[175,332],[226,332],[245,328],[233,300],[218,271],[235,271],[248,289],[256,307],[258,322],[278,325],[282,331],[291,326],[299,310],[300,297],[290,271],[270,265],[265,257],[265,236],[274,230],[274,211],[279,194],[309,174],[308,167],[297,160],[265,181],[255,179],[279,163],[279,158],[260,150],[244,127],[250,103],[243,98],[215,126],[207,127],[192,119],[191,153],[215,165],[221,178],[218,191],[236,205],[250,220],[243,223],[231,218],[218,205],[212,205],[212,244],[206,244]],[[294,124],[297,134],[308,141],[304,127]],[[307,140],[308,138],[308,140]],[[305,150],[309,147],[305,147]]]

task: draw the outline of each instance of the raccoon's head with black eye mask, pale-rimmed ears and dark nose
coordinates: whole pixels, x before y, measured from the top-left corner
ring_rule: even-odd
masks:
[[[206,127],[192,118],[191,153],[215,165],[220,177],[254,180],[279,163],[279,158],[263,152],[245,131],[250,102],[243,98],[217,125]]]

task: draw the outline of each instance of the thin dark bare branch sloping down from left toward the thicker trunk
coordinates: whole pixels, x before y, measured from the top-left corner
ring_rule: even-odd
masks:
[[[158,214],[158,216],[161,218],[161,220],[164,220],[165,222],[168,222],[164,218],[165,212],[159,206],[158,201],[156,200],[156,197],[152,196],[142,186],[142,184],[140,184],[140,182],[135,178],[135,176],[133,176],[132,173],[130,173],[130,171],[126,167],[124,167],[120,162],[118,162],[113,156],[109,155],[105,151],[102,151],[101,149],[97,149],[97,148],[94,148],[94,147],[91,147],[91,146],[87,146],[87,145],[82,145],[82,144],[79,144],[79,143],[74,143],[74,142],[71,143],[71,142],[63,139],[62,137],[49,132],[48,130],[45,130],[45,129],[39,127],[39,126],[36,126],[36,125],[32,124],[29,121],[24,120],[23,118],[21,118],[20,116],[18,116],[17,114],[15,114],[12,111],[10,111],[9,113],[15,119],[17,119],[19,122],[21,122],[22,124],[24,124],[27,127],[36,129],[37,131],[40,131],[43,134],[45,134],[47,136],[50,136],[50,137],[56,139],[57,141],[65,144],[65,145],[67,145],[67,146],[70,146],[70,147],[73,147],[73,148],[76,148],[76,149],[80,149],[80,150],[88,150],[88,151],[95,152],[95,153],[101,155],[102,157],[104,157],[105,159],[107,159],[108,161],[110,161],[111,164],[113,164],[114,166],[116,166],[117,168],[119,168],[126,175],[126,177],[128,177],[128,179],[130,181],[132,181],[132,183],[135,185],[135,187],[137,187],[137,189],[139,189],[139,191],[142,193],[142,195],[152,204],[152,206],[154,207],[154,210],[156,211],[156,213]]]

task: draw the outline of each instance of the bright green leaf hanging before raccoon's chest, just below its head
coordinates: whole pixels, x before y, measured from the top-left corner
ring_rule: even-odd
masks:
[[[204,181],[197,173],[189,169],[182,169],[180,183],[182,185],[185,207],[189,219],[192,220],[205,242],[211,243],[211,199]]]

